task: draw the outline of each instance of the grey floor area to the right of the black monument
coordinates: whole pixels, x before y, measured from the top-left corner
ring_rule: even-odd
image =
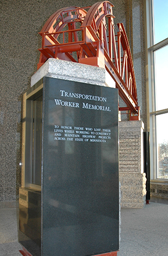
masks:
[[[152,201],[152,200],[151,200]],[[123,208],[118,256],[168,256],[168,205]]]

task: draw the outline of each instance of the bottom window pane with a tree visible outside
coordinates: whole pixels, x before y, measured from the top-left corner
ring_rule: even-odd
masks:
[[[168,179],[168,113],[156,115],[157,178]]]

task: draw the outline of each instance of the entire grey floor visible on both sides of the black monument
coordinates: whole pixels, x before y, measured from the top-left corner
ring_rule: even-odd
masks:
[[[156,202],[152,199],[143,209],[122,209],[118,256],[168,256],[168,202]],[[21,256],[17,230],[18,204],[0,202],[0,256]]]

